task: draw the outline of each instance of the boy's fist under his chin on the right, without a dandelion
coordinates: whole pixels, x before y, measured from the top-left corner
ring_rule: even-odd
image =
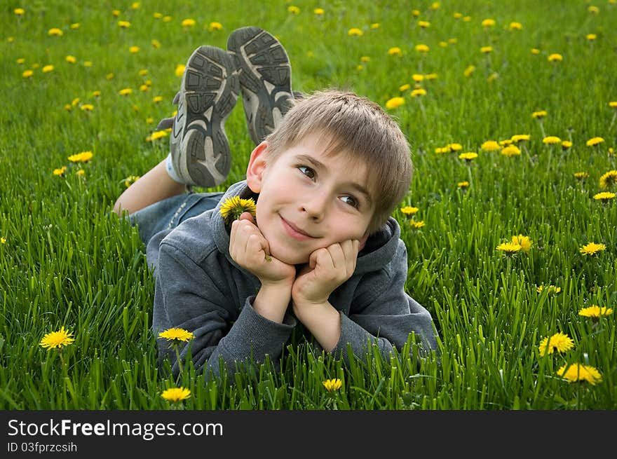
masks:
[[[351,278],[359,249],[360,242],[354,239],[313,252],[292,287],[294,308],[327,303],[334,289]]]

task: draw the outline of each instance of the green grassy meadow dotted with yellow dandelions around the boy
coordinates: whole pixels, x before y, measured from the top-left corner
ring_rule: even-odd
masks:
[[[616,23],[615,0],[3,2],[0,409],[616,409]],[[407,135],[393,217],[439,357],[346,367],[294,339],[233,384],[158,371],[154,278],[109,212],[167,155],[192,50],[246,25],[295,90],[354,90]],[[253,147],[240,104],[220,191]]]

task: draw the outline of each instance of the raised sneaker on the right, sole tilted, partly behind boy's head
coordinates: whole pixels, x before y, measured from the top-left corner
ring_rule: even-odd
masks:
[[[259,27],[231,32],[227,52],[240,73],[248,131],[257,145],[276,128],[294,100],[289,57],[283,45]]]

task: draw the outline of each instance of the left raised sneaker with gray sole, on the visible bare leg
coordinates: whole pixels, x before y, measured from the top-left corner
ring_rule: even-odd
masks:
[[[239,92],[236,68],[224,50],[194,50],[174,97],[178,110],[170,133],[172,165],[187,185],[210,188],[227,178],[231,151],[225,121]]]

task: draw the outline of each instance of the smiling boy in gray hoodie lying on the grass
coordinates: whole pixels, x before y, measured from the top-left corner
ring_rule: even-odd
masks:
[[[231,374],[266,354],[278,362],[298,322],[318,350],[345,360],[348,344],[362,356],[369,342],[388,358],[412,332],[436,350],[430,314],[405,292],[407,253],[390,217],[412,176],[399,126],[353,93],[294,100],[285,49],[262,29],[234,31],[227,48],[191,55],[168,160],[114,205],[147,244],[155,335],[191,331],[191,357],[207,377],[219,376],[219,359]],[[224,121],[240,91],[257,144],[246,179],[225,193],[183,193],[224,181]],[[255,217],[226,224],[222,210],[236,196],[255,200]],[[158,345],[176,373],[176,355]]]

